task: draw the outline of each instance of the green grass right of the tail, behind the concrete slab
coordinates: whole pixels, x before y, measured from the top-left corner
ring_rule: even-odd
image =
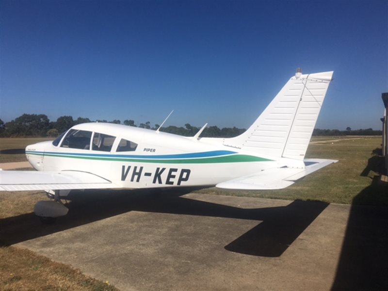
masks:
[[[350,139],[349,139],[350,138]],[[328,165],[317,172],[297,181],[286,189],[239,191],[209,188],[197,193],[249,196],[290,200],[317,200],[328,203],[388,205],[388,187],[373,183],[377,173],[369,171],[361,176],[372,158],[372,150],[381,145],[377,137],[317,137],[312,140],[320,143],[310,144],[307,158],[333,159],[339,162]],[[329,141],[329,142],[324,142]]]

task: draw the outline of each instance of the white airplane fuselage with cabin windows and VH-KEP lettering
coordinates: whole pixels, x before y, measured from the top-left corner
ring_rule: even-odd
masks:
[[[57,145],[43,142],[27,146],[27,159],[36,170],[93,173],[120,188],[134,189],[216,185],[278,167],[281,162],[281,159],[224,146],[223,139],[218,138],[193,139],[106,123],[81,124],[70,130],[90,136],[88,140],[82,137],[86,148],[66,141],[69,132]],[[93,144],[97,142],[94,138],[97,134],[109,136],[109,150]],[[136,147],[121,150],[123,140]]]

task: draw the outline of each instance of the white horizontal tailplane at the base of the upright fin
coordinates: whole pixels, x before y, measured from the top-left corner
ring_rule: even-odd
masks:
[[[264,170],[259,173],[232,179],[218,183],[217,188],[240,189],[240,190],[274,190],[283,189],[292,185],[296,180],[315,172],[328,164],[338,162],[335,160],[305,159],[306,167],[298,168],[275,168]]]

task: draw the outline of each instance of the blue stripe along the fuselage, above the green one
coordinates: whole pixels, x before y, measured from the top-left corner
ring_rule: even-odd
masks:
[[[209,152],[176,154],[176,155],[114,155],[114,154],[87,154],[87,153],[65,153],[65,152],[42,152],[42,151],[26,151],[26,154],[49,154],[49,155],[67,155],[67,156],[82,156],[82,157],[98,157],[98,158],[136,158],[136,159],[195,159],[209,158],[237,154],[237,152],[228,150],[214,150]]]

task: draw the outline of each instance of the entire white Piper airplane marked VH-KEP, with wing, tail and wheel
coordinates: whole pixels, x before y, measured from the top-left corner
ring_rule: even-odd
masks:
[[[26,147],[37,171],[0,171],[0,190],[45,190],[36,215],[65,215],[72,189],[216,186],[282,189],[334,160],[305,159],[333,72],[298,71],[258,119],[233,138],[201,138],[108,123],[79,124]],[[164,122],[163,122],[164,123]]]

